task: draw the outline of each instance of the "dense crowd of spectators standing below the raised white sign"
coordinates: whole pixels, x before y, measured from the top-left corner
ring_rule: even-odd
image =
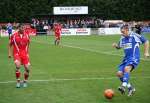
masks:
[[[104,27],[104,21],[99,18],[82,17],[82,18],[58,18],[58,19],[32,19],[32,26],[35,28],[52,28],[53,24],[59,22],[63,28],[99,28]]]

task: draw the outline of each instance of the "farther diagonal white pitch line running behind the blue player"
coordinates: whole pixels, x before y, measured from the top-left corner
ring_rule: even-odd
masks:
[[[34,40],[33,40],[33,42],[41,43],[41,44],[49,44],[49,43],[46,43],[46,42],[34,41]],[[62,45],[62,46],[69,47],[69,48],[81,49],[81,50],[84,50],[84,51],[89,51],[89,52],[94,52],[94,53],[100,53],[100,54],[106,54],[106,55],[113,55],[113,56],[123,57],[123,55],[114,54],[112,52],[100,52],[100,51],[93,50],[93,49],[86,49],[86,48],[81,48],[81,47],[78,47],[78,46],[71,46],[71,45]],[[150,61],[149,59],[145,59],[145,58],[140,58],[140,59],[143,60],[143,61]]]

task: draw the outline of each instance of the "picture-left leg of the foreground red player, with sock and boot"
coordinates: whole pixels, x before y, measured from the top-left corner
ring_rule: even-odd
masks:
[[[21,75],[20,66],[21,66],[21,63],[20,63],[20,61],[16,60],[15,65],[16,65],[16,80],[17,80],[16,88],[20,88],[20,86],[21,86],[21,83],[20,83],[20,75]]]

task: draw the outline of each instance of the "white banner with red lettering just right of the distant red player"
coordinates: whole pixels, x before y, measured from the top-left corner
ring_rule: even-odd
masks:
[[[90,35],[90,28],[62,29],[61,35]]]

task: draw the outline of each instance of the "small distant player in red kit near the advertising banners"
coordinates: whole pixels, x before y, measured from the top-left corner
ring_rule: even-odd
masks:
[[[54,32],[55,32],[55,45],[59,45],[60,36],[61,36],[61,24],[54,24]]]

